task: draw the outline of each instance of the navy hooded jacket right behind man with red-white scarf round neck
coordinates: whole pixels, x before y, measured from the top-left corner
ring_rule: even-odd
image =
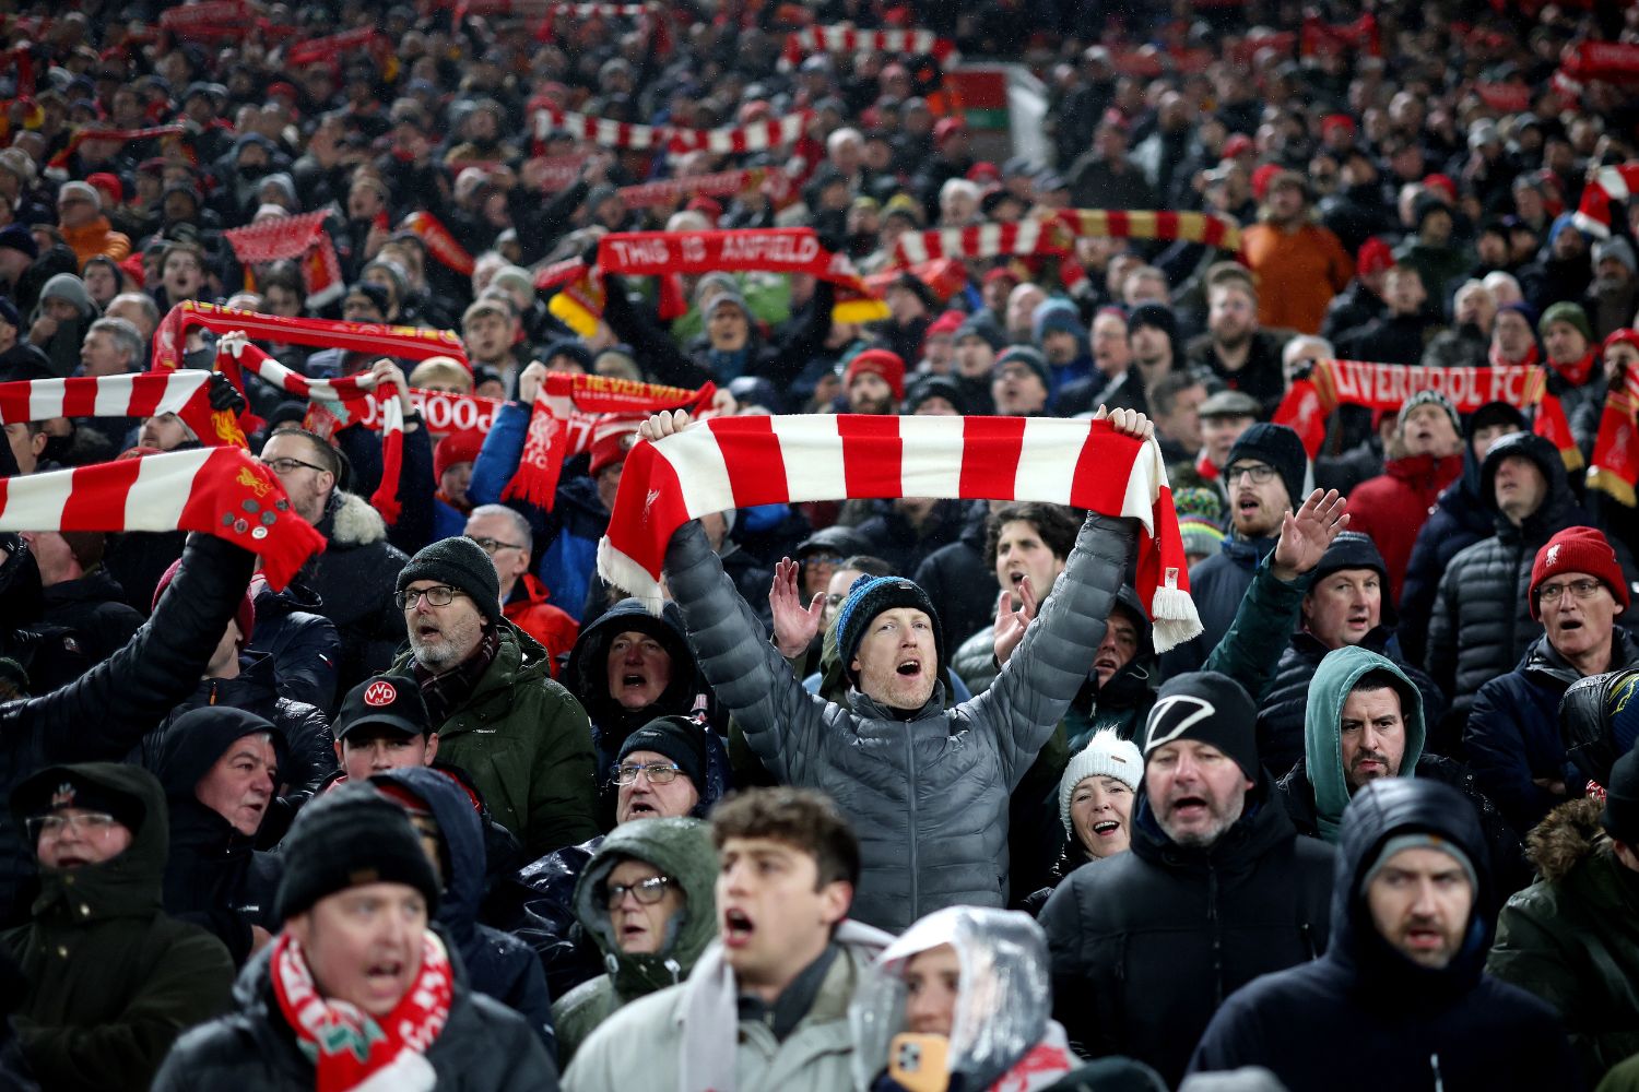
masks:
[[[439,869],[444,878],[438,923],[461,953],[474,992],[493,997],[528,1020],[529,1030],[551,1051],[552,1000],[541,964],[529,945],[479,923],[487,856],[475,801],[452,776],[428,766],[388,769],[370,781],[402,786],[433,812],[443,842]]]

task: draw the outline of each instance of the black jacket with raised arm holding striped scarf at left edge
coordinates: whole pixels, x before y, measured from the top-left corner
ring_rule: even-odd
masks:
[[[0,583],[18,563],[0,565]],[[113,658],[62,689],[0,704],[0,796],[57,761],[120,760],[188,696],[244,596],[254,557],[195,535],[154,616]],[[28,917],[25,884],[33,855],[8,815],[0,817],[0,922]]]

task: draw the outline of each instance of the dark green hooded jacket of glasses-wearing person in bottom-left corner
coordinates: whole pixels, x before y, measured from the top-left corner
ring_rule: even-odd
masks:
[[[70,768],[31,779],[48,786]],[[221,941],[161,912],[167,815],[159,781],[139,766],[84,763],[74,773],[138,802],[143,819],[118,856],[41,869],[28,925],[0,933],[28,989],[16,1000],[23,1056],[48,1089],[148,1087],[172,1041],[225,1012],[233,961]],[[13,819],[34,797],[13,794]],[[30,807],[30,810],[33,810]]]

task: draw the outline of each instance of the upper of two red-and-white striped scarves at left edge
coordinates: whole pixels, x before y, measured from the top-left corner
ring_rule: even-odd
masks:
[[[210,372],[0,383],[0,424],[51,417],[157,417],[174,413],[207,447],[244,447],[231,411],[210,406]]]

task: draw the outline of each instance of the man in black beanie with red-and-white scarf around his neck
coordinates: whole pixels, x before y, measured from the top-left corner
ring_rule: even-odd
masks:
[[[398,804],[328,792],[284,851],[284,928],[239,1010],[182,1036],[154,1089],[557,1089],[523,1017],[472,992],[429,928],[439,881]]]

